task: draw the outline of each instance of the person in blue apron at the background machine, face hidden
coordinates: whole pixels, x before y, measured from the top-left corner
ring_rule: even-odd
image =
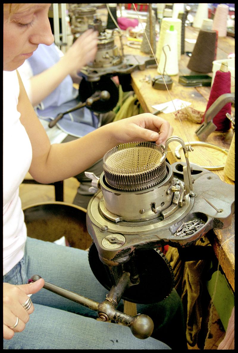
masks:
[[[81,82],[82,77],[78,73],[88,62],[91,37],[92,31],[85,31],[65,55],[55,43],[50,46],[39,44],[33,55],[18,68],[28,97],[51,143],[75,140],[114,119],[115,113],[112,111],[101,114],[99,120],[98,114],[83,107],[65,114],[54,127],[49,127],[49,121],[55,119],[59,113],[75,107],[79,102],[78,89],[74,84]],[[100,177],[103,172],[102,160],[94,163],[87,171]],[[93,196],[89,191],[91,179],[87,178],[84,172],[75,178],[80,185],[73,203],[87,209]]]

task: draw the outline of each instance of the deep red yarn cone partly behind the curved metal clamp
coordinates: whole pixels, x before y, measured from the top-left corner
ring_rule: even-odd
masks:
[[[208,108],[219,98],[222,94],[231,93],[231,73],[216,71],[212,90],[210,92],[209,100],[207,103]],[[206,114],[204,113],[204,115]],[[231,128],[231,121],[227,119],[226,113],[231,114],[231,103],[227,103],[218,114],[213,118],[213,123],[217,126],[216,131],[226,132]],[[204,121],[204,115],[202,122]]]

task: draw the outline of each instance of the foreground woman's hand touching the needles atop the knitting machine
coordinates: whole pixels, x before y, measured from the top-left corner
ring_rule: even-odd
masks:
[[[155,141],[157,144],[165,144],[166,139],[173,133],[173,127],[168,121],[151,113],[115,121],[111,130],[119,143]]]

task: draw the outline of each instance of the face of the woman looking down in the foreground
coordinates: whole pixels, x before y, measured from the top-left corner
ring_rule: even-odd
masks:
[[[50,45],[54,37],[48,19],[51,4],[4,4],[3,70],[16,70],[30,58],[38,44]]]

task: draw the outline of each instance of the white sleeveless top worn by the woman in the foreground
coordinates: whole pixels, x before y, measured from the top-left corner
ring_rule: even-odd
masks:
[[[19,82],[17,72],[3,72],[3,274],[24,255],[26,226],[19,185],[32,158],[30,139],[17,111]]]

